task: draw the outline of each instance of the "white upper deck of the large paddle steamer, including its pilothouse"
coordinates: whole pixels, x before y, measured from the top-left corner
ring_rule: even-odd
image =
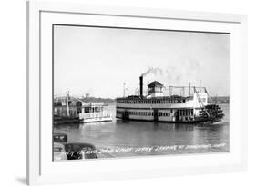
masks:
[[[116,100],[117,107],[202,107],[208,104],[208,93],[205,87],[165,87],[163,84],[155,81],[148,84],[148,91],[146,93],[140,92],[140,95],[128,95],[119,97]]]

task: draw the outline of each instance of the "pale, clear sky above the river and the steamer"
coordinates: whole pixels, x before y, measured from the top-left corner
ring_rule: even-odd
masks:
[[[85,26],[54,27],[54,94],[102,98],[164,86],[205,86],[211,96],[230,95],[230,34]]]

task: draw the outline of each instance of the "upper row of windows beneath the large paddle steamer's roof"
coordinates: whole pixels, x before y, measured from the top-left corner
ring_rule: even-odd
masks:
[[[185,103],[185,99],[172,99],[172,100],[118,100],[118,103],[130,104],[160,104],[160,103]]]

